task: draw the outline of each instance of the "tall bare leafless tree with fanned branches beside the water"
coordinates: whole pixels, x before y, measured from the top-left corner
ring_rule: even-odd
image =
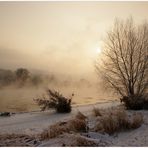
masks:
[[[148,90],[148,24],[132,18],[115,20],[104,41],[103,60],[96,71],[124,99],[145,97]],[[134,100],[135,99],[135,100]],[[123,100],[124,101],[124,100]]]

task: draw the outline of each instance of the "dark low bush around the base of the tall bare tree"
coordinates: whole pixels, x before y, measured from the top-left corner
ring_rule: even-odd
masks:
[[[133,96],[124,96],[121,99],[121,102],[124,103],[127,109],[132,110],[141,110],[148,109],[148,100],[146,96],[133,95]]]

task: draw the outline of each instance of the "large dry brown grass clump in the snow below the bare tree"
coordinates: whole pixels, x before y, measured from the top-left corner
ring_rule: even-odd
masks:
[[[124,110],[117,110],[101,116],[95,125],[95,130],[111,135],[122,130],[138,128],[142,123],[142,114],[133,114],[130,118]]]

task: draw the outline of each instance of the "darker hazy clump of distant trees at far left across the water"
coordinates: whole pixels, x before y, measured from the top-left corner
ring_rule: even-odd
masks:
[[[54,81],[53,75],[43,76],[42,74],[33,74],[26,68],[18,68],[15,71],[0,69],[0,87],[9,85],[17,85],[23,87],[25,85],[38,86],[46,81]]]

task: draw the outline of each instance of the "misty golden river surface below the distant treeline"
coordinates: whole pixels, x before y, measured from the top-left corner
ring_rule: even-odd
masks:
[[[18,88],[13,85],[0,90],[0,111],[39,110],[39,107],[33,99],[46,95],[45,90],[47,88],[57,90],[65,97],[71,97],[71,94],[74,93],[75,95],[72,99],[72,105],[74,106],[108,102],[109,100],[115,99],[99,90],[96,84],[81,84],[81,82],[78,82],[77,84],[66,84],[66,86],[49,84],[38,87],[24,86],[23,88]]]

